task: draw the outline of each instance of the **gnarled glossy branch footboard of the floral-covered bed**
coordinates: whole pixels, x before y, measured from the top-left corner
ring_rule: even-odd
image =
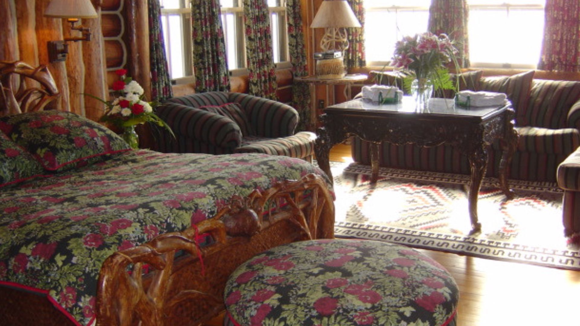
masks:
[[[200,325],[224,310],[224,286],[241,263],[277,245],[332,238],[333,224],[333,198],[320,176],[234,197],[211,219],[108,257],[97,325]],[[211,243],[198,245],[200,234]]]

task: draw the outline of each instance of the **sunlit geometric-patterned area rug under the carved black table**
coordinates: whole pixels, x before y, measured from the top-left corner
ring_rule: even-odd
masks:
[[[469,176],[333,162],[336,237],[375,239],[461,255],[580,270],[578,241],[564,237],[562,191],[554,183],[510,180],[507,200],[498,180],[478,195],[481,233],[471,230]]]

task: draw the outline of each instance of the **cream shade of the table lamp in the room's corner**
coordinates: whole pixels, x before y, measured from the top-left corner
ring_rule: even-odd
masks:
[[[361,27],[361,24],[346,0],[325,0],[310,27]]]

